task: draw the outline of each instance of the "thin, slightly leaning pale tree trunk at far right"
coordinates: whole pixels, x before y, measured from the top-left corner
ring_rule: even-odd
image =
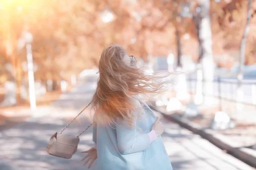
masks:
[[[244,99],[244,94],[242,90],[242,80],[244,78],[244,58],[245,58],[245,45],[246,45],[246,38],[247,34],[249,32],[249,23],[250,23],[250,18],[251,18],[251,4],[252,0],[249,0],[248,2],[248,13],[247,13],[247,23],[244,29],[244,34],[243,38],[241,40],[241,45],[240,45],[240,52],[239,52],[239,73],[237,75],[237,80],[238,80],[238,88],[237,88],[237,95],[236,95],[236,107],[237,110],[241,110],[242,105],[239,102],[243,102]]]

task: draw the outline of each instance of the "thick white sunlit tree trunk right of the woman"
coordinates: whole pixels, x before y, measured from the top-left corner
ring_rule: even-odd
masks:
[[[212,30],[209,16],[210,0],[199,0],[198,7],[200,8],[200,11],[194,16],[199,42],[198,69],[202,70],[198,71],[198,76],[202,77],[203,81],[203,87],[200,88],[202,89],[201,92],[204,96],[204,104],[212,105],[214,62],[212,56]],[[199,75],[199,73],[202,75]]]

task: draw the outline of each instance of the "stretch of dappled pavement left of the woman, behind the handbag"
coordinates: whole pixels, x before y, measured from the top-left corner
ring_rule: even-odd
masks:
[[[61,97],[69,95],[73,96],[68,93]],[[39,107],[31,117],[15,127],[0,131],[0,170],[83,170],[80,161],[83,155],[79,152],[93,145],[91,128],[81,136],[78,152],[70,160],[48,155],[46,147],[50,136],[62,130],[89,102],[89,97],[80,97],[80,102],[59,99],[49,106]],[[70,103],[76,108],[67,107]],[[64,134],[76,135],[90,123],[88,112],[85,112]]]

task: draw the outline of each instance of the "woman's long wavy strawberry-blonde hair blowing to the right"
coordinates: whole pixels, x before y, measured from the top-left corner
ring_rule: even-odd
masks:
[[[152,73],[123,61],[126,52],[120,45],[110,45],[102,51],[99,60],[99,78],[91,101],[94,119],[98,123],[116,124],[116,119],[132,125],[135,110],[140,109],[134,99],[150,98],[166,90],[169,82],[157,82],[168,77]]]

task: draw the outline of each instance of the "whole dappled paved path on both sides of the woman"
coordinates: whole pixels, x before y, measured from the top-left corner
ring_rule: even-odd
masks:
[[[82,150],[93,145],[92,129],[80,138],[78,152],[72,159],[47,155],[49,137],[60,131],[90,101],[95,79],[80,84],[49,107],[38,108],[35,116],[0,132],[0,170],[84,170]],[[156,113],[158,115],[158,113]],[[79,133],[91,122],[85,112],[64,134]],[[162,119],[163,140],[174,170],[252,170],[200,136]]]

